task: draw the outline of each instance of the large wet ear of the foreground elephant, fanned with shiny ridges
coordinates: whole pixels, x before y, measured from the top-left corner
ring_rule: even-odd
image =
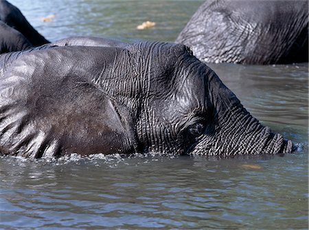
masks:
[[[1,154],[135,151],[128,109],[84,76],[61,74],[63,63],[46,64],[52,58],[45,50],[24,55],[0,79]]]

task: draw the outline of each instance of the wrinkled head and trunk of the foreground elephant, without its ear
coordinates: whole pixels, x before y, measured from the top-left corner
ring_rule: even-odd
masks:
[[[147,151],[209,156],[292,151],[290,140],[251,116],[185,45],[147,42],[127,49],[130,79],[121,75],[114,95],[133,108]],[[115,79],[108,81],[101,87]]]

